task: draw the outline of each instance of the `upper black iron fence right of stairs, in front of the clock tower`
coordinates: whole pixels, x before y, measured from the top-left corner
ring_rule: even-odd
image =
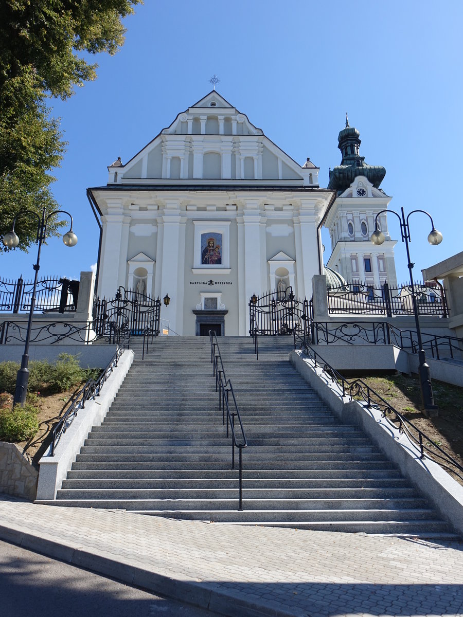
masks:
[[[440,284],[430,286],[414,283],[420,315],[448,317],[445,289]],[[411,285],[390,287],[388,283],[375,287],[367,283],[347,283],[327,291],[330,315],[413,315]]]

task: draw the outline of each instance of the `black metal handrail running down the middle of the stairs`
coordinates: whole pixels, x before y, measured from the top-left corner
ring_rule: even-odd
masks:
[[[223,368],[222,355],[220,354],[219,342],[217,341],[217,335],[214,330],[209,330],[209,341],[211,342],[211,364],[214,366],[213,375],[215,377],[215,392],[219,391],[219,411],[222,411],[222,426],[225,426],[225,412],[227,416],[227,437],[229,437],[229,428],[231,431],[231,469],[235,469],[235,448],[238,448],[239,452],[239,506],[238,511],[243,510],[243,448],[246,448],[248,441],[246,441],[246,434],[244,433],[243,423],[241,422],[240,411],[238,410],[238,404],[236,403],[235,392],[231,385],[230,379],[227,379],[225,375],[225,368]],[[220,367],[219,367],[220,361]],[[235,410],[233,413],[230,411],[230,392],[233,397],[233,405]],[[238,418],[241,431],[241,442],[236,439],[235,432],[235,418]]]

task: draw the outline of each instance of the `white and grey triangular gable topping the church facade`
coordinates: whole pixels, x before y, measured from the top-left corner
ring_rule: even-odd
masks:
[[[318,186],[319,168],[303,167],[213,90],[177,115],[126,164],[108,167],[109,184],[257,183]]]

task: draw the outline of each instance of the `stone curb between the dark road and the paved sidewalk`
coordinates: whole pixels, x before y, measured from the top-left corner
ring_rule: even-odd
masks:
[[[16,544],[23,549],[32,550],[47,557],[66,561],[78,568],[84,568],[116,581],[146,589],[173,600],[206,608],[225,617],[306,617],[307,611],[301,608],[282,607],[271,600],[259,602],[254,598],[243,597],[236,591],[218,589],[215,583],[188,580],[182,573],[181,579],[154,572],[135,565],[130,560],[117,560],[114,555],[96,551],[80,544],[64,542],[44,534],[35,536],[20,526],[8,527],[0,524],[0,539]]]

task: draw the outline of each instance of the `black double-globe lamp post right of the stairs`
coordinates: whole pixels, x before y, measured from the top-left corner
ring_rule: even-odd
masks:
[[[418,305],[417,305],[417,300],[416,300],[415,284],[413,281],[413,273],[412,273],[412,269],[415,264],[412,263],[410,260],[410,251],[409,251],[409,242],[411,242],[411,239],[410,239],[410,227],[409,227],[408,220],[414,212],[422,212],[423,214],[427,215],[427,217],[430,218],[431,225],[432,225],[432,230],[430,231],[428,235],[428,242],[430,244],[433,244],[434,246],[442,242],[442,234],[440,233],[440,231],[436,230],[431,215],[428,212],[425,212],[425,210],[412,210],[412,212],[410,212],[409,215],[407,215],[407,218],[405,218],[405,213],[404,213],[403,208],[401,208],[401,215],[399,215],[398,212],[394,212],[394,210],[381,210],[381,212],[378,212],[375,217],[375,231],[373,231],[372,237],[371,237],[371,241],[373,242],[373,244],[376,244],[377,246],[379,246],[380,244],[383,244],[383,242],[385,241],[385,235],[380,230],[379,225],[378,225],[378,217],[383,212],[391,212],[395,214],[396,217],[398,217],[400,221],[400,233],[402,236],[402,241],[405,242],[405,247],[407,250],[408,269],[410,273],[410,286],[412,290],[412,307],[413,307],[413,314],[415,317],[415,326],[416,326],[416,333],[417,333],[418,347],[419,347],[418,375],[420,379],[422,408],[429,412],[436,412],[437,405],[435,405],[434,398],[433,398],[431,374],[429,370],[429,365],[426,362],[426,356],[425,356],[425,352],[423,349],[423,342],[421,339]]]

